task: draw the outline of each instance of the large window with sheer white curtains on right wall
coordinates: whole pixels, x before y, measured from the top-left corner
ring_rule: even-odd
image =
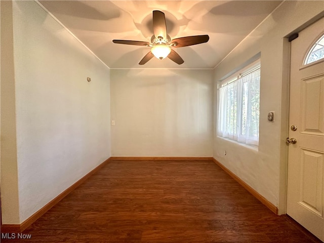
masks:
[[[219,137],[259,144],[260,61],[226,79],[218,92]]]

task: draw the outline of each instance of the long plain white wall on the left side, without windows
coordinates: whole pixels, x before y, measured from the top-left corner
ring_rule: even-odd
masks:
[[[110,157],[110,70],[37,3],[10,5],[2,5],[9,16],[1,22],[13,39],[12,62],[1,62],[12,70],[11,80],[1,78],[11,85],[1,90],[1,118],[13,121],[2,123],[2,220],[19,224]],[[16,134],[3,133],[3,125]],[[16,157],[5,160],[8,145]]]

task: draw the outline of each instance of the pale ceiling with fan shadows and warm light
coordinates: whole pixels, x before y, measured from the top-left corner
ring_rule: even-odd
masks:
[[[39,1],[110,68],[214,68],[281,1]],[[147,47],[112,39],[150,41],[152,11],[165,13],[171,38],[208,34],[208,43],[175,48],[184,63],[166,58],[139,65]]]

